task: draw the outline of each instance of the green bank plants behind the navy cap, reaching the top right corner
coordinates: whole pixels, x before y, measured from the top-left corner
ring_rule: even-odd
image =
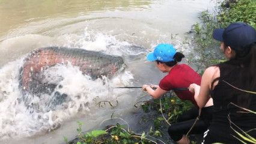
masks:
[[[218,64],[224,58],[216,51],[219,43],[212,38],[213,30],[225,28],[232,22],[246,22],[256,28],[256,1],[255,0],[224,0],[215,11],[216,15],[209,11],[203,11],[199,17],[201,22],[193,25],[194,32],[192,42],[195,45],[195,52],[189,56],[189,64],[194,64],[197,71],[203,73],[210,65]],[[213,11],[214,12],[214,11]]]

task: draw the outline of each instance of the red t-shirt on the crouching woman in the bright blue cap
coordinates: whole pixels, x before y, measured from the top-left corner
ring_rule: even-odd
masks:
[[[165,91],[170,91],[174,88],[188,88],[192,83],[200,85],[201,76],[190,68],[189,65],[178,64],[174,66],[171,71],[169,71],[167,76],[163,77],[159,83],[159,87]],[[174,92],[181,100],[190,100],[195,104],[195,106],[197,106],[194,94],[192,94],[189,90]]]

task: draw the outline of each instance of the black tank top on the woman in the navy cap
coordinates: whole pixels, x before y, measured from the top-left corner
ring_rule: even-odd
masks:
[[[245,110],[231,104],[234,103],[256,112],[256,94],[248,94],[228,85],[230,83],[237,88],[249,90],[249,80],[243,79],[243,72],[240,68],[237,65],[219,65],[220,77],[213,81],[214,83],[219,80],[218,85],[211,91],[214,104],[212,123],[216,127],[230,128],[233,125],[233,127],[237,126],[244,131],[256,128],[256,114],[247,113]],[[248,98],[250,99],[249,102]],[[241,104],[239,101],[245,102]],[[253,135],[256,136],[256,133]]]

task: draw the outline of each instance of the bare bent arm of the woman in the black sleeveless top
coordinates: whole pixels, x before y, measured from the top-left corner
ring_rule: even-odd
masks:
[[[195,93],[195,101],[197,101],[197,105],[202,108],[206,105],[207,101],[210,99],[210,89],[215,79],[217,67],[209,67],[204,71],[201,80],[201,87],[197,84],[193,83],[189,86],[189,91]]]

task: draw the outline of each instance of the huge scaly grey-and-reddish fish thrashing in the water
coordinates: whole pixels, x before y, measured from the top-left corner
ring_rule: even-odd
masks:
[[[92,79],[102,76],[111,78],[125,67],[123,58],[120,56],[106,55],[101,52],[67,47],[44,47],[34,50],[25,58],[23,67],[20,68],[20,88],[22,88],[22,100],[25,104],[31,104],[29,100],[31,96],[28,95],[40,97],[41,93],[53,92],[55,84],[42,83],[41,73],[44,70],[56,64],[68,62],[79,67],[83,74],[91,76]],[[55,100],[62,103],[63,97],[66,96],[57,94],[56,97],[62,98],[55,98]]]

